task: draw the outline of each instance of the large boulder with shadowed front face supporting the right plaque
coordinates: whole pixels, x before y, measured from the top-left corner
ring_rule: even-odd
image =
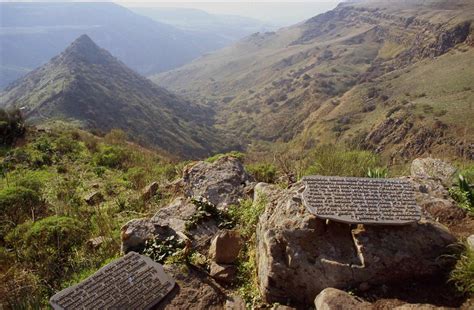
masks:
[[[267,302],[308,305],[327,287],[433,276],[446,267],[440,257],[456,242],[447,228],[427,220],[365,226],[318,219],[301,202],[301,184],[259,189],[257,196],[265,196],[267,205],[257,225],[257,264]]]

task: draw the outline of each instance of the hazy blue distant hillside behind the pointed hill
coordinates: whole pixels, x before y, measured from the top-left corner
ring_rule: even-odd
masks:
[[[113,3],[0,3],[0,14],[0,88],[84,33],[145,75],[176,68],[226,44],[218,40],[219,33],[178,29]]]

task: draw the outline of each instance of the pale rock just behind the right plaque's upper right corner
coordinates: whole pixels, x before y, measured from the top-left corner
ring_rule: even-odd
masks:
[[[450,163],[435,158],[417,158],[411,164],[412,177],[432,178],[445,185],[452,183],[456,168]]]

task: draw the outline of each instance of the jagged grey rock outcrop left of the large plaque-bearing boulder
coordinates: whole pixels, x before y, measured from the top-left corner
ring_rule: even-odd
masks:
[[[211,239],[219,230],[218,223],[213,218],[206,218],[187,229],[186,223],[197,211],[191,198],[205,197],[217,208],[225,208],[246,197],[246,190],[252,184],[242,163],[231,156],[214,163],[198,162],[189,166],[183,178],[175,183],[184,188],[184,196],[177,197],[151,219],[132,220],[122,227],[123,252],[140,251],[147,240],[171,235],[180,237],[185,232],[194,248],[207,252]]]

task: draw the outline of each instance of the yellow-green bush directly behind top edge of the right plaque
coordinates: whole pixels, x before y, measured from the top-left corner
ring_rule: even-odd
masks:
[[[365,177],[369,169],[379,166],[380,161],[369,151],[345,150],[334,145],[317,147],[313,158],[305,175]]]

